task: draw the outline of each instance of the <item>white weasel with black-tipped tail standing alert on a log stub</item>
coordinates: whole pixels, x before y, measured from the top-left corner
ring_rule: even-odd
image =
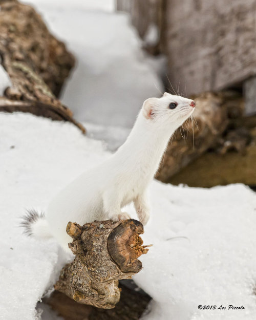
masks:
[[[169,93],[144,101],[124,144],[108,160],[83,173],[50,202],[46,215],[29,212],[23,225],[35,237],[57,238],[68,250],[69,221],[130,219],[123,206],[133,202],[140,222],[150,218],[147,187],[175,130],[193,113],[193,100]]]

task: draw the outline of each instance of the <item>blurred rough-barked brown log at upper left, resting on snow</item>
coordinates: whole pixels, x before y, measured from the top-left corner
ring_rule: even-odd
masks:
[[[0,5],[0,63],[12,82],[0,97],[0,111],[71,121],[85,132],[56,98],[74,66],[73,55],[32,7],[16,0],[0,0]]]

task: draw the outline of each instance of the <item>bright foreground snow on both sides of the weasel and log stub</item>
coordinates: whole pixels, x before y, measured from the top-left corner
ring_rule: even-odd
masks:
[[[71,123],[19,113],[0,114],[0,123],[0,314],[32,320],[64,262],[54,240],[26,237],[18,219],[25,208],[44,210],[63,185],[110,153]],[[154,181],[150,198],[143,240],[153,246],[134,277],[153,297],[144,319],[255,319],[255,194],[241,184],[201,189]],[[230,304],[245,309],[198,310]]]

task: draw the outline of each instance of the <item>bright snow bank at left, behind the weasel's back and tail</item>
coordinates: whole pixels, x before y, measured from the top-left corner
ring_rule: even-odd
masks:
[[[0,113],[0,155],[0,314],[30,320],[53,281],[58,246],[22,235],[18,219],[25,208],[44,209],[63,185],[108,153],[70,123]]]

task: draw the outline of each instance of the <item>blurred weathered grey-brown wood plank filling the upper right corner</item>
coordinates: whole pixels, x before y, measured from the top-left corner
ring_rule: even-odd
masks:
[[[198,94],[255,75],[255,12],[255,0],[166,0],[165,52],[174,88]]]

